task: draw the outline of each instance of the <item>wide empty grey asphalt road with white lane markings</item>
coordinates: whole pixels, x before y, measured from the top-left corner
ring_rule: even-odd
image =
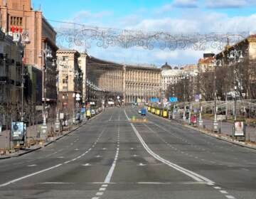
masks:
[[[107,109],[44,149],[0,161],[0,198],[256,198],[256,151],[137,109]]]

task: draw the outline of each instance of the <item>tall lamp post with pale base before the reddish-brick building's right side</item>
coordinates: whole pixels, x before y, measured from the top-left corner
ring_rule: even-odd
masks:
[[[44,65],[43,65],[43,125],[42,125],[42,133],[43,139],[46,139],[46,131],[47,131],[47,124],[46,124],[46,73],[47,73],[47,60],[53,58],[52,52],[49,48],[43,49],[43,58],[44,58]]]

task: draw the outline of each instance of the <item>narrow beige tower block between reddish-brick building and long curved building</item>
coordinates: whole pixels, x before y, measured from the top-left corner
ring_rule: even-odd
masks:
[[[79,112],[82,96],[82,70],[78,65],[80,53],[76,50],[58,50],[58,107],[69,119]],[[77,100],[76,95],[80,95]]]

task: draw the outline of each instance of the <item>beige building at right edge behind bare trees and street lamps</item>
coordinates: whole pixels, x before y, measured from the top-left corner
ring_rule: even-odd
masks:
[[[234,50],[237,52],[235,55]],[[230,55],[233,55],[233,58]],[[232,87],[226,88],[233,91],[238,87],[238,91],[245,93],[245,99],[256,99],[256,35],[251,35],[244,40],[227,45],[223,51],[215,55],[215,59],[221,62],[223,67],[232,69],[235,76]],[[239,60],[239,61],[238,61]]]

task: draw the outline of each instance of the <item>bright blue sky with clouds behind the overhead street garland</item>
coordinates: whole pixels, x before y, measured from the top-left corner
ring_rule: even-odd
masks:
[[[68,0],[32,2],[36,10],[41,5],[48,19],[90,26],[175,33],[256,31],[256,0],[74,0],[72,5]],[[203,51],[197,50],[102,49],[95,46],[87,52],[106,60],[155,65],[166,61],[177,65],[196,63],[203,55]]]

